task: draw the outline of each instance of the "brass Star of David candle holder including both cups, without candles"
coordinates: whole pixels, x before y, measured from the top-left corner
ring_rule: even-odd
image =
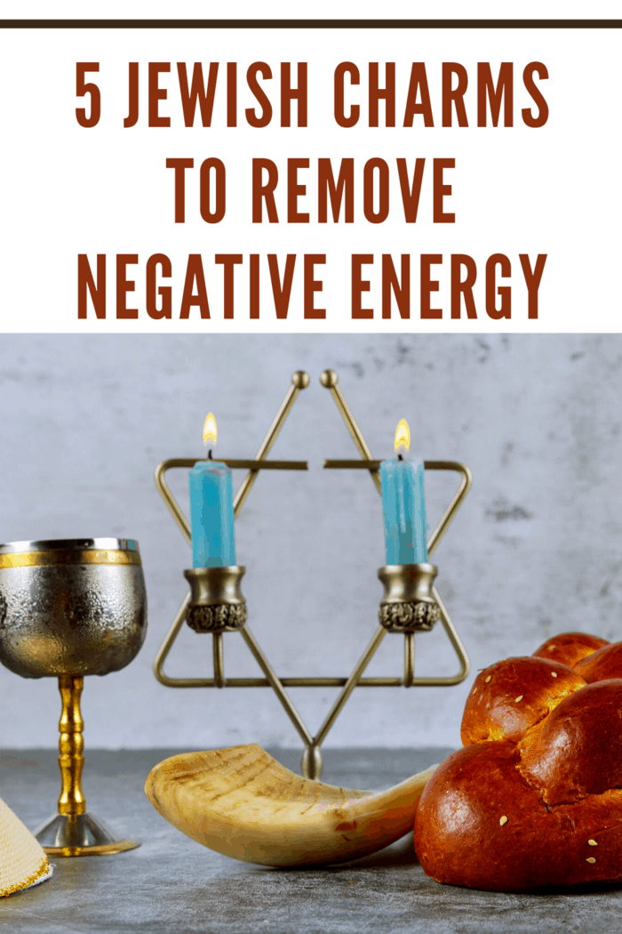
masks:
[[[361,455],[361,460],[325,460],[325,468],[366,470],[380,492],[380,460],[372,460],[365,439],[339,389],[337,374],[333,370],[325,370],[321,376],[321,382],[325,389],[329,389],[331,392],[339,408],[339,413],[345,421],[352,435],[352,440]],[[243,468],[249,472],[242,481],[242,486],[233,503],[236,517],[260,471],[307,470],[308,464],[306,461],[269,460],[268,455],[271,446],[283,427],[285,418],[297,399],[298,393],[301,389],[306,389],[308,385],[309,376],[306,373],[299,371],[293,375],[292,386],[288,390],[255,460],[231,460],[218,457],[220,462],[225,463],[230,468]],[[198,462],[199,459],[197,458],[173,458],[162,461],[156,469],[156,485],[159,493],[171,510],[188,543],[191,541],[190,527],[187,518],[166,483],[165,474],[173,468],[191,469]],[[460,488],[449,502],[445,515],[441,518],[427,543],[428,555],[432,555],[471,486],[471,473],[468,467],[453,460],[426,460],[424,461],[424,469],[454,471],[461,475]],[[256,639],[246,622],[246,602],[240,589],[244,568],[237,566],[195,568],[184,573],[190,582],[191,590],[182,603],[177,616],[175,616],[173,625],[160,646],[154,663],[154,672],[160,684],[167,687],[271,687],[304,743],[301,771],[306,778],[320,778],[322,773],[321,745],[355,687],[451,686],[460,684],[469,672],[469,659],[460,636],[455,630],[435,588],[434,581],[437,569],[433,564],[420,562],[416,564],[388,565],[380,568],[378,575],[384,585],[384,595],[380,602],[380,627],[371,642],[366,646],[352,673],[344,677],[281,677],[274,672],[270,661],[256,643]],[[164,662],[185,621],[196,632],[212,634],[214,648],[213,678],[173,678],[164,672]],[[440,621],[449,637],[449,642],[460,662],[460,670],[450,676],[416,677],[415,633],[431,630],[437,621]],[[240,633],[256,658],[259,668],[264,673],[263,678],[226,677],[223,636],[227,632]],[[367,665],[388,632],[400,633],[404,636],[403,677],[364,677]],[[298,714],[286,691],[288,687],[341,688],[339,697],[314,736],[311,735],[302,717]]]

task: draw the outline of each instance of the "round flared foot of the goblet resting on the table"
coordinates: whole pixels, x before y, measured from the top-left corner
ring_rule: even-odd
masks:
[[[48,856],[106,856],[133,850],[135,840],[115,840],[91,814],[54,814],[35,837]]]

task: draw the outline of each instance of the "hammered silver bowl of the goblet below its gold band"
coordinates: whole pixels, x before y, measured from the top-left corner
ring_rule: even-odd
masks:
[[[0,661],[24,678],[117,672],[145,630],[140,565],[0,568]]]

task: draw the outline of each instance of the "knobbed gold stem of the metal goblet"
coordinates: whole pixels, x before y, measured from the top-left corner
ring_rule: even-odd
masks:
[[[61,797],[59,814],[84,814],[87,802],[82,794],[82,766],[84,765],[84,721],[80,713],[80,695],[84,678],[71,674],[59,676],[62,714],[59,721],[59,766],[61,767]]]

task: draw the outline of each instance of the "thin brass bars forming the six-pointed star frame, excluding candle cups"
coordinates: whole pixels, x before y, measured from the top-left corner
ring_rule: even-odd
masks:
[[[337,403],[341,417],[346,423],[348,431],[352,435],[354,444],[357,446],[359,453],[363,460],[325,460],[324,466],[328,468],[363,468],[369,471],[371,479],[373,480],[376,488],[380,492],[380,461],[372,460],[369,448],[366,446],[365,439],[360,432],[352,413],[348,408],[348,405],[339,389],[338,376],[333,370],[325,370],[321,376],[322,385],[326,389],[329,389],[333,399]],[[306,461],[276,461],[267,460],[268,454],[270,453],[270,448],[274,444],[278,433],[283,428],[284,421],[289,415],[289,412],[296,402],[297,395],[301,389],[306,389],[309,385],[309,376],[302,372],[298,371],[292,377],[292,386],[287,392],[283,400],[283,404],[279,409],[274,421],[270,426],[270,431],[266,435],[262,445],[260,446],[256,460],[227,460],[224,458],[218,458],[228,464],[229,467],[247,467],[249,473],[246,474],[242,486],[238,490],[238,493],[235,497],[233,503],[234,515],[237,517],[242,509],[242,505],[246,500],[253,484],[256,481],[256,476],[259,470],[262,469],[275,469],[275,470],[306,470],[307,463]],[[186,467],[191,468],[198,462],[197,458],[173,458],[171,460],[163,460],[156,469],[156,485],[159,489],[159,492],[166,502],[167,506],[173,513],[173,517],[187,538],[188,544],[191,542],[191,533],[190,526],[187,522],[187,518],[184,516],[182,510],[179,508],[179,505],[175,501],[173,494],[170,488],[166,484],[165,474],[168,470],[173,467]],[[466,493],[468,492],[471,486],[471,473],[468,467],[465,467],[462,463],[458,463],[453,460],[425,460],[424,467],[426,470],[449,470],[455,471],[458,474],[461,474],[461,485],[458,489],[458,492],[453,497],[452,501],[449,503],[449,506],[445,512],[445,515],[441,518],[438,523],[435,531],[432,533],[430,540],[428,542],[428,554],[432,555],[435,550],[436,545],[440,542],[441,538],[447,531],[449,523],[455,517],[458,509],[460,508]],[[245,643],[250,648],[253,656],[256,658],[257,664],[259,665],[262,672],[265,674],[265,678],[227,678],[225,677],[225,663],[224,663],[224,650],[223,650],[223,633],[214,632],[214,678],[172,678],[169,675],[164,673],[164,662],[169,655],[173,647],[173,643],[179,634],[184,619],[186,618],[187,604],[189,601],[189,594],[187,595],[186,600],[182,603],[179,608],[177,616],[173,620],[173,625],[164,639],[164,642],[161,644],[158,655],[154,662],[154,672],[158,678],[160,684],[167,687],[271,687],[275,694],[277,695],[279,701],[281,701],[283,708],[290,720],[292,721],[294,727],[297,729],[297,732],[305,743],[305,751],[302,756],[302,772],[306,778],[319,779],[322,772],[322,755],[320,752],[320,746],[324,742],[328,731],[331,729],[335,723],[337,717],[339,716],[341,710],[343,709],[346,701],[352,694],[352,691],[355,687],[414,687],[414,686],[449,686],[460,684],[461,681],[467,676],[469,672],[469,659],[464,650],[463,644],[460,640],[460,637],[449,619],[449,614],[445,607],[443,606],[442,601],[440,600],[436,589],[433,588],[433,593],[435,601],[438,604],[440,610],[440,621],[442,622],[448,636],[449,642],[453,646],[453,649],[460,661],[460,671],[457,674],[454,674],[449,677],[415,677],[414,676],[414,633],[406,632],[404,633],[405,638],[405,662],[404,662],[404,677],[371,677],[364,678],[363,673],[366,670],[367,665],[369,664],[371,658],[376,653],[380,643],[384,639],[384,636],[387,634],[382,626],[376,631],[371,642],[367,645],[365,652],[358,660],[355,665],[352,674],[349,677],[343,678],[294,678],[294,677],[284,677],[280,678],[276,672],[272,669],[268,658],[264,655],[259,645],[256,643],[255,637],[252,635],[251,630],[249,630],[248,625],[244,625],[242,630],[240,630],[242,638]],[[311,736],[309,729],[305,726],[302,717],[298,714],[297,709],[292,702],[291,698],[287,694],[286,687],[340,687],[341,691],[339,697],[331,707],[330,711],[325,717],[324,723],[315,734]]]

